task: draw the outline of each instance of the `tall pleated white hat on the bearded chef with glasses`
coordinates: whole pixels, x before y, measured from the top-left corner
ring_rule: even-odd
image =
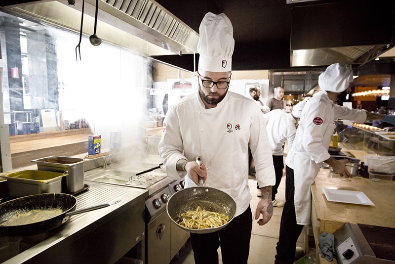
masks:
[[[208,12],[200,23],[198,69],[209,72],[232,70],[232,54],[235,46],[233,27],[229,18]]]

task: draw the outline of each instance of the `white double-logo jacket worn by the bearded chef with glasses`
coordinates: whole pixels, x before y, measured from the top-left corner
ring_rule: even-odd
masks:
[[[174,104],[166,113],[159,154],[167,176],[179,179],[179,159],[201,156],[207,167],[205,186],[230,194],[237,204],[236,216],[249,206],[248,145],[254,158],[259,186],[275,185],[276,176],[265,121],[249,98],[228,91],[216,107],[205,109],[198,93]]]

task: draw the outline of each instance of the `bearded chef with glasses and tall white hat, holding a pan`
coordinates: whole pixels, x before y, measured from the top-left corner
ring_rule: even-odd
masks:
[[[255,161],[256,179],[263,186],[255,220],[260,225],[273,215],[272,185],[276,183],[268,135],[254,101],[228,91],[235,41],[229,18],[207,13],[199,27],[198,92],[174,104],[167,112],[159,154],[169,177],[188,175],[186,186],[198,176],[206,186],[231,195],[237,204],[235,218],[223,229],[191,233],[195,263],[222,261],[246,264],[252,230],[252,198],[248,187],[248,146]],[[196,157],[203,165],[199,167]]]

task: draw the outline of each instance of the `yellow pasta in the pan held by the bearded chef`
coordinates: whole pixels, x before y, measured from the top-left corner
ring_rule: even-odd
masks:
[[[218,227],[229,221],[229,217],[215,212],[204,211],[197,207],[195,211],[187,211],[182,213],[176,222],[190,229],[203,229],[210,227]]]

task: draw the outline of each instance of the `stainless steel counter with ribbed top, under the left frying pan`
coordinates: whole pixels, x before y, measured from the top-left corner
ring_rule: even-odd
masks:
[[[144,201],[148,191],[94,182],[89,182],[89,185],[86,191],[76,195],[77,209],[118,199],[121,201],[106,208],[71,216],[62,226],[40,234],[44,236],[41,242],[4,264],[108,264],[117,262],[135,246],[138,247],[137,255],[144,256]]]

